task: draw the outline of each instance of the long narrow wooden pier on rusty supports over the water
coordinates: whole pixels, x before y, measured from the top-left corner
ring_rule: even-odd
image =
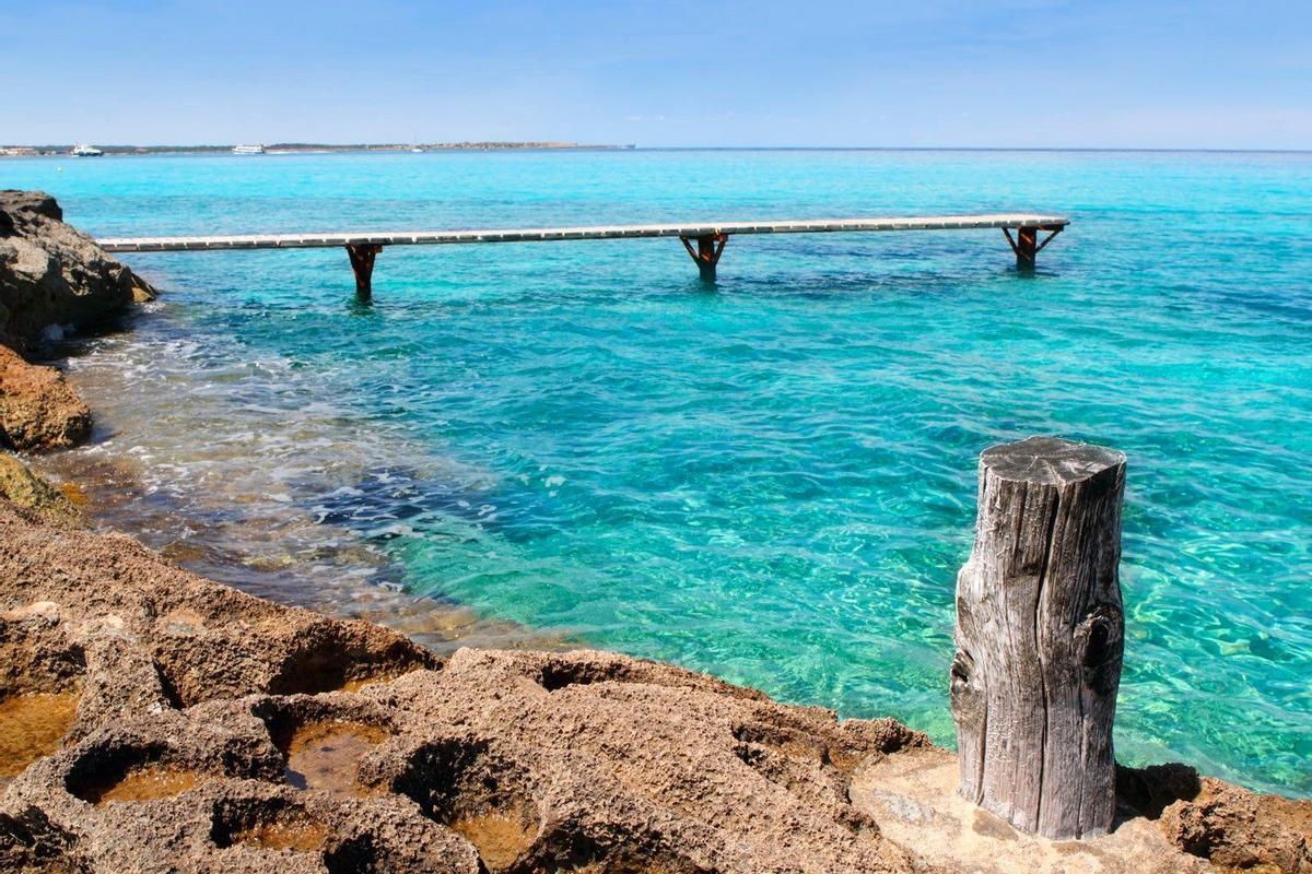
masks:
[[[1002,231],[1021,269],[1034,267],[1038,253],[1069,219],[1056,215],[1004,212],[878,219],[799,219],[792,221],[728,221],[719,224],[628,224],[575,228],[517,228],[474,231],[358,231],[341,233],[252,233],[236,236],[105,237],[106,252],[210,252],[230,249],[344,248],[362,300],[373,294],[374,258],[383,246],[467,245],[476,242],[551,242],[564,240],[642,240],[678,237],[705,280],[715,269],[731,236],[760,233],[871,233],[893,231]],[[1015,236],[1012,232],[1015,232]],[[1047,237],[1039,240],[1040,233]]]

